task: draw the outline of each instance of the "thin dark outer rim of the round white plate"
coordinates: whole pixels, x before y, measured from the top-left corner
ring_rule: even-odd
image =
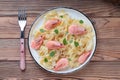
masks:
[[[83,14],[83,15],[90,21],[90,23],[92,24],[92,27],[93,27],[94,33],[95,33],[95,42],[94,42],[94,43],[95,43],[95,48],[94,48],[94,51],[93,51],[93,54],[91,55],[91,57],[88,57],[89,60],[88,60],[85,64],[83,64],[82,67],[80,67],[80,68],[78,68],[78,69],[75,69],[75,70],[73,70],[73,71],[71,71],[71,72],[68,71],[67,73],[53,72],[53,71],[50,71],[50,70],[47,70],[47,69],[43,68],[43,67],[35,60],[35,58],[33,57],[32,52],[31,52],[31,50],[30,50],[30,45],[29,45],[30,32],[31,32],[31,29],[32,29],[33,25],[35,24],[35,22],[39,19],[40,16],[44,15],[45,13],[47,13],[47,12],[49,12],[49,11],[51,11],[51,10],[55,10],[55,9],[58,9],[58,8],[72,9],[72,10],[75,10],[75,11]],[[94,56],[94,54],[95,54],[95,52],[96,52],[96,48],[97,48],[97,32],[96,32],[96,28],[95,28],[95,25],[94,25],[94,21],[93,21],[91,18],[89,18],[86,14],[84,14],[82,11],[80,11],[80,10],[78,10],[78,9],[75,9],[75,8],[72,8],[72,7],[61,7],[61,6],[60,6],[60,7],[52,7],[52,8],[49,8],[49,9],[43,11],[42,13],[40,13],[40,14],[36,17],[36,19],[33,21],[32,25],[31,25],[31,27],[30,27],[30,29],[29,29],[29,32],[28,32],[27,46],[28,46],[28,50],[29,50],[30,55],[31,55],[32,58],[34,59],[34,62],[35,62],[37,65],[39,65],[39,68],[41,68],[41,69],[43,69],[43,70],[45,70],[45,71],[47,71],[47,72],[54,73],[54,74],[68,74],[68,73],[73,73],[73,72],[75,72],[75,71],[78,71],[78,70],[83,69],[83,68],[91,61],[92,57]]]

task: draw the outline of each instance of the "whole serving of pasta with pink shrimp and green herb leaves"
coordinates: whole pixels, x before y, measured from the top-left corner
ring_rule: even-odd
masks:
[[[94,36],[92,26],[84,19],[71,17],[63,10],[52,10],[34,32],[31,48],[39,54],[42,67],[54,71],[73,69],[90,56]]]

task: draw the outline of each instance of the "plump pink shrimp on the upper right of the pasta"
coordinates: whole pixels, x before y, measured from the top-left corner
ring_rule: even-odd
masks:
[[[84,27],[73,24],[69,26],[69,33],[73,35],[82,35],[86,33],[86,30]]]

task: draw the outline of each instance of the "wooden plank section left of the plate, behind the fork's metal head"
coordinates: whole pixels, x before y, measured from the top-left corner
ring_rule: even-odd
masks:
[[[20,27],[17,17],[0,17],[0,38],[19,38]],[[25,28],[25,37],[27,38],[29,29],[35,17],[27,18],[27,26]]]

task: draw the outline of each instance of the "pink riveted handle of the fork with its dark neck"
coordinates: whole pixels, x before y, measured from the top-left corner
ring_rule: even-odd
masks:
[[[22,71],[25,70],[25,45],[24,45],[25,40],[23,35],[24,34],[22,33],[20,38],[20,69]]]

